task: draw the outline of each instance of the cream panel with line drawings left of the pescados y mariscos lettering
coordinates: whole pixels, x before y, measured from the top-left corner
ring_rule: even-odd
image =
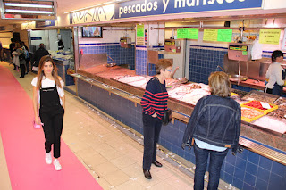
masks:
[[[114,20],[114,4],[70,13],[70,24]]]

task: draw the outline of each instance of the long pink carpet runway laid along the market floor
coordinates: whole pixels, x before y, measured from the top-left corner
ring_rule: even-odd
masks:
[[[12,73],[0,66],[0,132],[13,190],[102,189],[62,139],[63,169],[45,161],[44,132],[32,127],[29,95]]]

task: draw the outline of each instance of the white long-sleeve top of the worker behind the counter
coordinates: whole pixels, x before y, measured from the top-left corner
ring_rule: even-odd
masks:
[[[266,87],[273,89],[273,85],[277,82],[278,85],[283,86],[284,80],[282,79],[282,65],[279,62],[273,62],[269,65],[266,72],[266,78],[269,79]]]

